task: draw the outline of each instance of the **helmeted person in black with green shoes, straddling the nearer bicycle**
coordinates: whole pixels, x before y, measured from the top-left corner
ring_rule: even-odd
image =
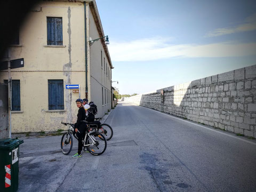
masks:
[[[84,122],[82,122],[86,118],[85,109],[83,107],[83,100],[77,99],[76,106],[79,108],[78,114],[77,114],[77,121],[75,123],[75,135],[78,139],[78,151],[72,157],[82,157],[82,154],[81,154],[81,151],[83,148],[82,140],[83,140],[83,135],[84,135],[84,132],[86,129],[86,124]]]

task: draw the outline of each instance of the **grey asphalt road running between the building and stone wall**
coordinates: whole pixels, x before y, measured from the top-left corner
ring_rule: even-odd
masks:
[[[121,102],[104,154],[60,151],[58,137],[20,145],[19,191],[256,191],[256,142]]]

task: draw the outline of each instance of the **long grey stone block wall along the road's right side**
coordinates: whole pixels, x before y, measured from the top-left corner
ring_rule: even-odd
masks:
[[[125,101],[256,138],[256,65],[163,90]]]

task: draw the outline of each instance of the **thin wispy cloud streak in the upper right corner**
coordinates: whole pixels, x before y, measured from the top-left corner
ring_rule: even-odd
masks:
[[[206,37],[217,37],[227,34],[256,30],[256,13],[245,19],[245,22],[233,28],[219,28],[211,31]]]

